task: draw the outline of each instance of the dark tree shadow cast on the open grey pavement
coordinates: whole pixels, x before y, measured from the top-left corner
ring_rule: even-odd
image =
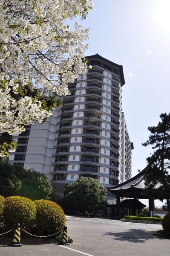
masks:
[[[129,229],[124,232],[106,232],[103,236],[113,236],[113,239],[120,241],[128,241],[132,243],[144,243],[149,239],[158,239],[154,236],[154,231],[146,231],[141,229]],[[159,238],[160,239],[160,238]]]

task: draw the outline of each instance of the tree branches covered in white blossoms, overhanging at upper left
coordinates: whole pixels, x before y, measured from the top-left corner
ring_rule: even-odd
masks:
[[[91,8],[92,0],[0,0],[0,133],[43,122],[86,73],[88,29],[71,30],[69,20]]]

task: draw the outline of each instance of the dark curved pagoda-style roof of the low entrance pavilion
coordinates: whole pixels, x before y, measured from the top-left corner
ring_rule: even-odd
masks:
[[[117,196],[120,197],[126,197],[126,198],[143,198],[147,199],[148,195],[144,195],[144,190],[147,189],[147,185],[145,182],[145,175],[149,171],[149,168],[151,169],[151,166],[147,166],[145,169],[143,169],[141,172],[139,172],[137,175],[135,175],[130,180],[127,180],[119,185],[116,185],[112,188],[109,188],[109,191]],[[153,186],[153,192],[156,198],[156,191],[158,189],[161,189],[162,184],[160,182],[156,183],[156,185]]]

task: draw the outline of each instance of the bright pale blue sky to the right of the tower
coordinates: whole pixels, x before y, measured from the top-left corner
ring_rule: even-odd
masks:
[[[132,151],[132,176],[146,167],[151,147],[148,126],[170,113],[170,0],[93,0],[83,26],[89,28],[88,50],[123,65],[124,112]],[[142,200],[148,204],[148,201]],[[160,206],[160,201],[155,201]]]

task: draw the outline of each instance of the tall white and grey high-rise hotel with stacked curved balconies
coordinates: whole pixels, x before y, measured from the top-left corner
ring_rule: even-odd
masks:
[[[56,198],[81,176],[107,189],[131,177],[133,143],[121,112],[123,67],[98,54],[87,58],[92,69],[68,85],[71,95],[47,122],[14,137],[17,151],[10,155],[11,163],[47,175]]]

